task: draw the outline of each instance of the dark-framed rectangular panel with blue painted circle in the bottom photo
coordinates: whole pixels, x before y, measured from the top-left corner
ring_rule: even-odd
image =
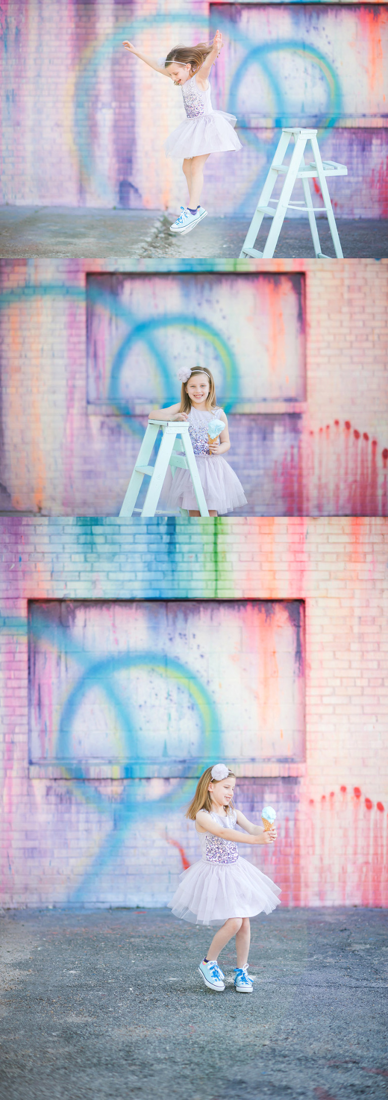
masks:
[[[303,759],[300,603],[51,601],[29,622],[32,763]]]

